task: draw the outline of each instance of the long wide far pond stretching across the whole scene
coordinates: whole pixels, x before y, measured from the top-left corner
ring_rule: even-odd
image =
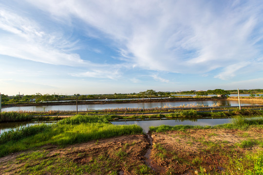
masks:
[[[241,105],[263,105],[260,102],[241,101]],[[213,100],[213,101],[186,101],[186,102],[152,102],[152,103],[124,103],[124,104],[92,104],[77,105],[78,111],[103,110],[116,108],[154,108],[154,107],[173,107],[180,105],[205,105],[211,106],[218,104],[220,106],[238,106],[238,101],[231,100]],[[2,111],[75,111],[76,105],[41,105],[41,106],[17,106],[2,108]]]

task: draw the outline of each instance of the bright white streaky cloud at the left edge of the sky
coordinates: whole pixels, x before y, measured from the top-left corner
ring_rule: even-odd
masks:
[[[0,9],[0,30],[0,54],[55,65],[88,63],[69,52],[76,49],[75,42],[47,34],[35,21],[3,9]]]

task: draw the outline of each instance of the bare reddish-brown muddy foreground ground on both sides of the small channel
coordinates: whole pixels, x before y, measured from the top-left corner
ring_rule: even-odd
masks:
[[[197,175],[200,167],[211,175],[224,174],[230,157],[263,149],[242,146],[244,140],[263,140],[262,128],[168,131],[152,133],[151,138],[121,136],[65,148],[46,145],[1,157],[0,174]]]

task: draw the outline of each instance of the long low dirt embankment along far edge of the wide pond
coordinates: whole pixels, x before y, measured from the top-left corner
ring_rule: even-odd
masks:
[[[226,98],[163,98],[163,99],[143,99],[143,100],[96,100],[96,101],[77,101],[78,105],[91,105],[91,104],[123,104],[123,103],[150,103],[150,102],[184,102],[184,101],[207,101],[207,100],[225,100]],[[16,104],[3,104],[3,107],[12,106],[33,106],[33,105],[76,105],[76,101],[70,102],[47,102],[47,103],[16,103]]]

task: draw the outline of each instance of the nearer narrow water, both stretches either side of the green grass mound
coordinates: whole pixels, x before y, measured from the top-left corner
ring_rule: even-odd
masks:
[[[145,133],[148,133],[150,126],[160,126],[162,124],[174,126],[174,125],[209,125],[214,126],[217,124],[224,124],[229,123],[231,119],[175,119],[175,120],[167,120],[167,119],[144,119],[144,120],[136,120],[136,121],[117,121],[117,122],[111,122],[115,125],[121,125],[121,124],[137,124],[143,128],[143,131]],[[55,121],[56,122],[56,121]],[[47,123],[51,124],[54,122],[41,122],[41,123]],[[38,124],[38,122],[17,122],[17,123],[0,123],[0,133],[9,131],[10,129],[17,129],[20,127],[26,127]]]

